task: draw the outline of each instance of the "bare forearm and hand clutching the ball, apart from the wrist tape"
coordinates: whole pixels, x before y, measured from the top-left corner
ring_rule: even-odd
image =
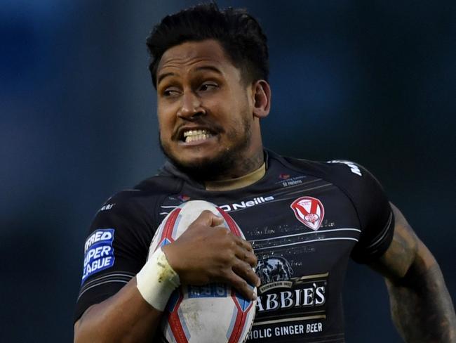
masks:
[[[257,259],[250,243],[217,227],[222,221],[210,211],[202,212],[180,238],[163,247],[163,253],[181,284],[228,283],[253,299],[249,284],[260,284],[252,269]],[[147,266],[150,263],[153,259],[138,275],[154,270]],[[156,285],[152,282],[149,290],[156,290]],[[90,306],[74,325],[74,342],[151,342],[162,312],[142,297],[149,290],[144,283],[140,286],[142,292],[135,277],[112,297]],[[164,297],[167,301],[169,293]]]

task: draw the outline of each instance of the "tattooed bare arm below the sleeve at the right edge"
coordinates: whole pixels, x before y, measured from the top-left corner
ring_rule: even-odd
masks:
[[[394,324],[405,342],[455,343],[455,309],[436,259],[391,207],[393,241],[370,266],[385,277]]]

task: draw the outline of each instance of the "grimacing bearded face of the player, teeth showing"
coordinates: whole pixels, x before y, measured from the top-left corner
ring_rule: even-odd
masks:
[[[226,174],[221,169],[258,148],[251,84],[243,82],[217,41],[169,48],[157,70],[157,99],[163,152],[193,176],[217,179]]]

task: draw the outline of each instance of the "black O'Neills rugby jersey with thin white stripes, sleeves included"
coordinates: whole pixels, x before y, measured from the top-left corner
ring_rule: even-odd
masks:
[[[387,197],[353,162],[265,156],[266,174],[245,188],[209,191],[168,163],[110,198],[84,247],[75,321],[140,271],[166,214],[206,200],[229,212],[258,258],[262,284],[248,342],[344,342],[347,261],[368,263],[389,247],[394,218]]]

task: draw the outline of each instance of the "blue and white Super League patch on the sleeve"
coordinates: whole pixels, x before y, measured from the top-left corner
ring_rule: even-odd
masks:
[[[86,278],[114,264],[114,228],[99,228],[86,240],[84,245],[83,283]]]

